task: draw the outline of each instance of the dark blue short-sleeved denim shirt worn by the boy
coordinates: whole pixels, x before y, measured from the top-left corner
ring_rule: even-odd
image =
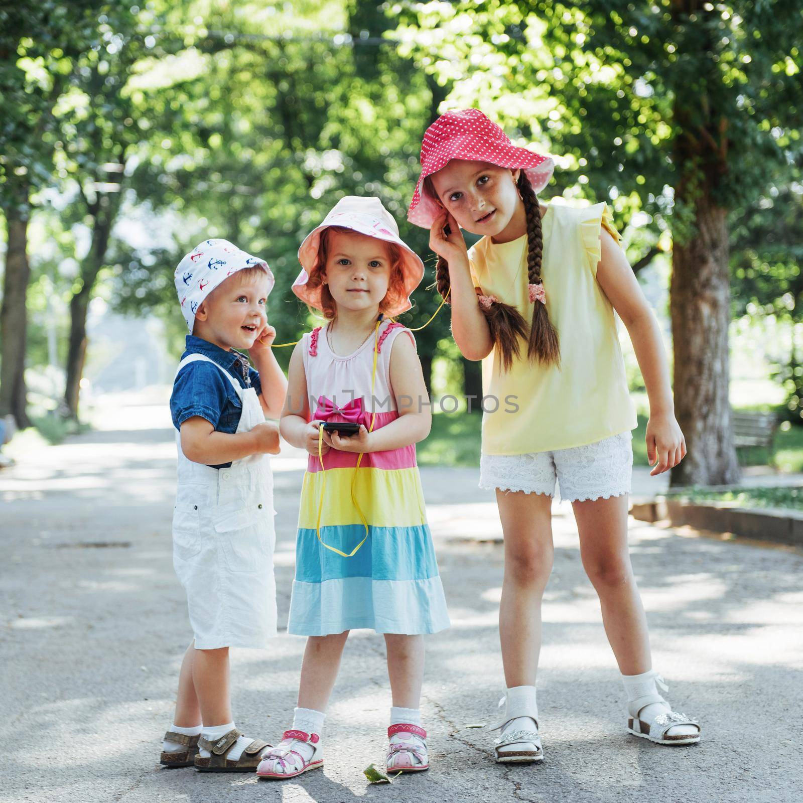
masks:
[[[230,373],[240,387],[254,388],[258,396],[262,393],[259,372],[251,368],[245,354],[226,351],[208,340],[187,335],[186,350],[181,359],[190,354],[209,357],[226,373]],[[178,372],[170,396],[170,414],[177,430],[181,429],[181,424],[187,418],[199,415],[206,418],[217,432],[233,433],[237,431],[242,413],[243,405],[237,392],[219,368],[199,360],[185,365]],[[213,468],[227,468],[230,465],[231,463],[221,463]]]

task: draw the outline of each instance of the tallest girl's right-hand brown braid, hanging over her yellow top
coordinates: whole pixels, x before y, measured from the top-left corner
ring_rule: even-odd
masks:
[[[541,281],[541,263],[544,256],[544,237],[541,232],[541,211],[538,198],[524,173],[519,176],[519,192],[527,215],[527,275],[529,283],[532,323],[527,344],[527,356],[545,365],[560,365],[560,343],[547,312],[544,283]]]

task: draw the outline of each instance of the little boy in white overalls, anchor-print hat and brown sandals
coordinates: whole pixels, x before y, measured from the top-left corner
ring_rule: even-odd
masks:
[[[176,289],[190,335],[170,397],[178,482],[173,566],[194,641],[181,662],[176,712],[161,764],[254,772],[267,745],[234,727],[229,647],[264,648],[276,633],[273,478],[287,381],[271,351],[262,259],[227,240],[179,263]],[[247,357],[236,349],[246,349]]]

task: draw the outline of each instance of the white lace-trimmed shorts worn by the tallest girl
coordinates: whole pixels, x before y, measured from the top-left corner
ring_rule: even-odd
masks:
[[[479,487],[493,491],[524,491],[561,499],[608,499],[630,493],[633,475],[633,436],[612,435],[587,446],[528,454],[483,454]]]

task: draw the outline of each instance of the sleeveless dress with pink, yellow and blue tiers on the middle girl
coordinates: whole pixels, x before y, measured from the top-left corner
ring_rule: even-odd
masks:
[[[327,324],[328,325],[328,324]],[[326,328],[304,335],[304,372],[312,419],[356,421],[374,431],[398,418],[390,388],[393,341],[410,330],[392,320],[379,328],[377,377],[371,393],[374,336],[357,351],[340,357],[329,349]],[[324,454],[326,488],[320,536],[349,553],[365,537],[352,502],[357,454]],[[369,537],[353,557],[320,543],[316,521],[323,488],[320,462],[312,455],[304,474],[296,540],[291,634],[323,636],[355,628],[377,633],[436,633],[449,626],[438,563],[426,524],[415,445],[364,454],[357,469],[355,495],[369,524]]]

